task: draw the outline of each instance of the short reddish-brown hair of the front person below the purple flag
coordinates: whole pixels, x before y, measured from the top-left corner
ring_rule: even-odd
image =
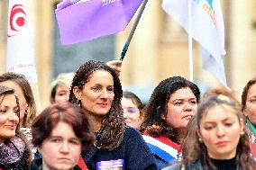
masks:
[[[41,147],[43,140],[50,137],[52,130],[60,122],[68,123],[81,140],[82,148],[87,149],[95,141],[87,116],[78,106],[71,103],[52,104],[36,117],[32,123],[32,144]]]

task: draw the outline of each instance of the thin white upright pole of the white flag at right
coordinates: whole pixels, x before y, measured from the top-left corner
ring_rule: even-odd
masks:
[[[193,41],[192,41],[192,13],[191,13],[191,0],[187,0],[188,10],[188,58],[189,58],[189,79],[191,82],[194,81],[193,71]]]

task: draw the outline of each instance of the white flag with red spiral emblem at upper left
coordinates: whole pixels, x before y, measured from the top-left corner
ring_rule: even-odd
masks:
[[[23,74],[37,82],[34,44],[27,8],[23,0],[9,0],[7,34],[7,72]]]

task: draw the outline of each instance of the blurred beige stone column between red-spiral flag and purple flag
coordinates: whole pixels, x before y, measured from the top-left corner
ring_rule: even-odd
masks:
[[[34,1],[35,43],[38,75],[38,88],[41,109],[50,103],[50,81],[52,72],[52,27],[54,17],[54,0]]]

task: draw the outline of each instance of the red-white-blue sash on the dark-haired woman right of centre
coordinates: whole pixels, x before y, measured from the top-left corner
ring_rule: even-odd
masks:
[[[180,147],[170,139],[166,137],[152,138],[148,135],[142,135],[142,138],[145,140],[148,147],[151,148],[151,152],[161,157],[163,160],[171,162],[178,159]]]

